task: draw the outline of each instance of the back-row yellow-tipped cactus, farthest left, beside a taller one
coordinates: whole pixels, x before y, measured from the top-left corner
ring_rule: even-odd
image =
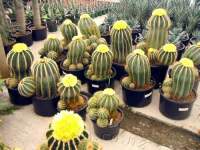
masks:
[[[62,23],[60,31],[62,33],[62,36],[64,37],[63,47],[66,47],[71,42],[72,38],[78,35],[78,30],[76,28],[76,25],[72,23],[70,19],[66,19]]]

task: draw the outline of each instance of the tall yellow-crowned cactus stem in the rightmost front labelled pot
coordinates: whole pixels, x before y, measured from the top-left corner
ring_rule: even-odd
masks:
[[[175,98],[187,97],[192,92],[195,82],[193,68],[194,64],[188,58],[182,58],[172,68],[172,94]]]

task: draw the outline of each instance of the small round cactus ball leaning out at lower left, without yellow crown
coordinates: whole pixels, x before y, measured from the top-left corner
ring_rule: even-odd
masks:
[[[33,77],[25,77],[18,84],[19,94],[24,97],[35,95],[35,80]]]

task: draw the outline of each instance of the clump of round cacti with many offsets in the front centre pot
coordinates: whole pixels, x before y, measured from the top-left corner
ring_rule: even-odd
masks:
[[[87,112],[91,120],[96,120],[99,127],[112,125],[112,115],[117,112],[120,99],[115,91],[107,88],[96,92],[88,101]]]

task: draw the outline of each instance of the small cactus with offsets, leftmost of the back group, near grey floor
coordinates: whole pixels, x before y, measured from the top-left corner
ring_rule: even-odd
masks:
[[[55,61],[61,55],[61,53],[62,46],[60,40],[54,34],[50,34],[47,37],[47,40],[44,43],[44,47],[39,51],[41,56],[46,56]]]

